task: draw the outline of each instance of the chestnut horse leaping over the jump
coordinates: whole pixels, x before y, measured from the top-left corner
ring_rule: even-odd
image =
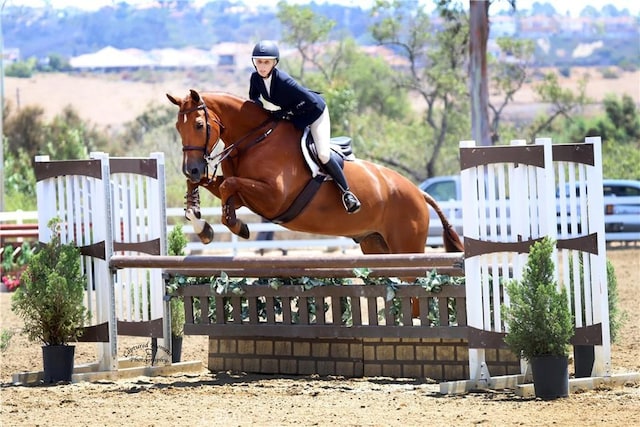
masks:
[[[241,237],[248,238],[249,230],[236,217],[240,206],[269,220],[283,218],[312,180],[300,147],[302,131],[287,120],[272,119],[257,104],[227,93],[191,90],[184,98],[169,94],[167,98],[179,108],[176,129],[182,138],[187,211],[198,208],[199,199],[194,202],[190,194],[202,186],[221,199],[222,223]],[[224,148],[217,147],[218,154],[212,154],[217,144]],[[224,177],[209,178],[210,169],[218,165]],[[458,234],[436,201],[399,173],[357,159],[345,161],[344,172],[362,203],[357,213],[348,214],[336,185],[324,182],[308,204],[282,225],[295,231],[350,237],[364,254],[421,253],[429,231],[427,205],[431,205],[444,228],[445,249],[463,251]]]

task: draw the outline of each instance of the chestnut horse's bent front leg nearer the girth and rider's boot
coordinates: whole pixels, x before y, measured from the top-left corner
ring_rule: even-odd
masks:
[[[247,200],[265,198],[269,194],[272,195],[271,199],[273,199],[273,188],[265,182],[249,178],[225,178],[220,185],[220,199],[222,200],[221,222],[232,233],[248,239],[250,236],[249,227],[244,221],[238,219],[236,209],[243,206]],[[255,206],[253,208],[255,209]]]

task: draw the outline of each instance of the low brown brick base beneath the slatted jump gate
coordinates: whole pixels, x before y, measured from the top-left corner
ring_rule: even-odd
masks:
[[[492,375],[520,372],[508,350],[485,352]],[[464,340],[424,338],[210,338],[209,370],[345,377],[469,378]]]

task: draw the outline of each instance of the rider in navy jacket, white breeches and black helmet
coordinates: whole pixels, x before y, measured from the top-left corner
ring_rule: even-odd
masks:
[[[276,68],[280,60],[280,51],[275,43],[259,42],[253,48],[251,59],[256,71],[251,74],[249,98],[262,106],[262,95],[266,101],[281,108],[275,114],[291,120],[298,129],[310,126],[322,167],[342,192],[342,203],[347,212],[357,212],[360,209],[360,201],[349,190],[342,168],[331,156],[331,122],[324,99]]]

